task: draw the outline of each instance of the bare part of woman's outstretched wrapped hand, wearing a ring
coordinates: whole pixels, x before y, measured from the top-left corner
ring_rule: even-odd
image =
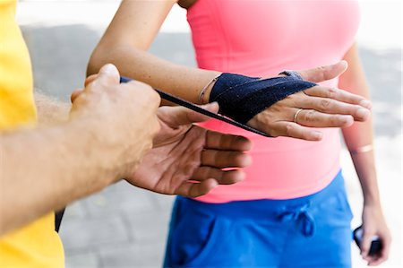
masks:
[[[310,82],[338,77],[347,62],[299,71]],[[361,96],[336,88],[315,86],[289,95],[253,117],[248,125],[271,136],[289,136],[319,141],[322,133],[312,127],[345,127],[370,116],[371,103]]]

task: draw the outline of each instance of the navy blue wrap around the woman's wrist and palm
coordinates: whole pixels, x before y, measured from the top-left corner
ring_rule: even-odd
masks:
[[[219,102],[219,113],[246,124],[272,104],[316,84],[301,79],[296,72],[261,80],[240,74],[222,73],[210,93],[210,102]]]

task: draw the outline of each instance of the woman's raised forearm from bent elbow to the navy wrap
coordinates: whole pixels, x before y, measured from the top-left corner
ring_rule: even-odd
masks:
[[[90,58],[87,74],[112,63],[124,76],[146,82],[189,101],[198,102],[201,89],[219,72],[174,65],[140,48],[125,44],[100,44]],[[206,91],[204,99],[208,99]]]

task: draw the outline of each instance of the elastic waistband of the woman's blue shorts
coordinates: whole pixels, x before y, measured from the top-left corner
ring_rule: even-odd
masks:
[[[303,197],[293,199],[260,199],[248,201],[234,201],[229,203],[204,203],[190,198],[178,196],[176,205],[186,212],[198,212],[202,214],[217,213],[229,217],[262,217],[270,213],[274,214],[281,210],[299,208],[302,206],[311,206],[316,203],[322,203],[330,195],[338,191],[344,191],[344,179],[341,170],[336,177],[333,178],[329,186],[321,191]]]

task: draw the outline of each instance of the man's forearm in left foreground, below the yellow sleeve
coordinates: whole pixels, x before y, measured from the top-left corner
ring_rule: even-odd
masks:
[[[119,176],[91,124],[78,120],[0,136],[0,235]]]

